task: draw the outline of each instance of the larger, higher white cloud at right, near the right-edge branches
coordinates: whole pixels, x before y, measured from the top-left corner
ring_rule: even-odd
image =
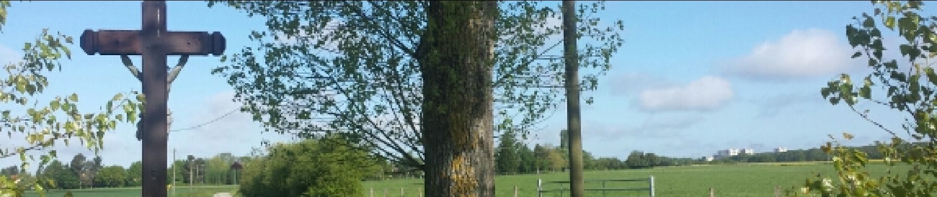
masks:
[[[724,68],[740,77],[782,79],[828,77],[861,66],[850,58],[852,49],[839,37],[823,29],[795,30],[781,40],[766,41]]]

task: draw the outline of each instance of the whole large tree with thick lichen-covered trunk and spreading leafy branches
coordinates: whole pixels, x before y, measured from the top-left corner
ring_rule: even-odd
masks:
[[[355,134],[379,156],[424,170],[427,196],[494,195],[494,130],[526,135],[562,101],[561,26],[550,22],[558,3],[224,3],[267,19],[251,35],[260,47],[215,70],[254,120],[305,137]],[[582,6],[580,66],[597,68],[583,72],[588,91],[610,67],[622,26],[587,18],[602,2]]]

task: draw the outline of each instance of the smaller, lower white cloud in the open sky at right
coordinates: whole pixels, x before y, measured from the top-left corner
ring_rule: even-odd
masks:
[[[641,91],[638,101],[647,111],[708,111],[725,105],[734,95],[729,81],[701,77],[686,86]]]

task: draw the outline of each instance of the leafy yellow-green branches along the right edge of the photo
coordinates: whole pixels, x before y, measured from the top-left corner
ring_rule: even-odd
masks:
[[[855,24],[846,26],[849,44],[856,49],[853,58],[868,59],[871,74],[860,80],[849,75],[828,82],[821,93],[833,105],[844,103],[860,117],[869,120],[885,132],[892,134],[891,142],[877,143],[885,163],[894,166],[905,163],[912,166],[902,173],[889,173],[878,178],[870,176],[865,167],[869,156],[854,148],[844,148],[834,138],[823,147],[833,156],[837,178],[817,174],[808,179],[798,191],[789,194],[820,193],[822,196],[930,196],[937,191],[937,74],[930,60],[937,57],[937,18],[924,17],[920,1],[872,1],[874,14],[863,13],[854,18]],[[876,19],[877,18],[877,19]],[[898,49],[902,58],[885,57],[883,29],[887,28],[902,38]],[[855,81],[855,85],[854,85]],[[874,91],[880,88],[883,91]],[[869,117],[869,110],[856,109],[859,102],[869,102],[891,108],[904,115],[901,129],[906,136],[886,128]],[[851,139],[843,134],[842,139]],[[831,136],[832,138],[832,136]],[[917,141],[915,143],[912,143]]]

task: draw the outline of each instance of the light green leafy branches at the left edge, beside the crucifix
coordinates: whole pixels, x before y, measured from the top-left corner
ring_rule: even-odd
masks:
[[[0,30],[8,20],[7,8],[11,5],[9,1],[0,1]],[[141,97],[136,92],[126,97],[127,93],[116,93],[95,113],[79,110],[79,96],[75,93],[54,96],[50,100],[35,99],[50,85],[45,75],[60,69],[61,62],[71,57],[67,47],[70,44],[71,36],[52,34],[44,29],[35,40],[23,44],[20,61],[0,63],[3,67],[0,71],[0,133],[11,140],[19,138],[17,140],[26,142],[24,146],[0,147],[0,158],[19,156],[22,169],[30,164],[40,168],[48,164],[56,154],[55,150],[46,148],[56,144],[68,146],[69,140],[97,152],[103,147],[104,134],[113,130],[118,121],[135,122],[141,108]],[[136,100],[130,99],[134,97]],[[119,113],[118,109],[122,108],[124,113]],[[46,151],[36,154],[36,150]],[[0,176],[0,195],[22,195],[24,190],[44,193],[40,183],[21,181],[17,184],[7,176]]]

